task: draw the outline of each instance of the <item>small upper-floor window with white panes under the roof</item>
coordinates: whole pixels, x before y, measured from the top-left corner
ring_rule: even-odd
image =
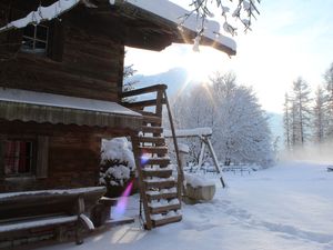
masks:
[[[23,30],[21,50],[31,53],[46,54],[48,51],[49,27],[29,24]]]

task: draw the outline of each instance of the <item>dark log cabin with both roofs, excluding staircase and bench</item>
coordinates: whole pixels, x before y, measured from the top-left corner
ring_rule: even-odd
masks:
[[[0,27],[54,2],[0,0]],[[101,138],[142,123],[121,103],[124,47],[160,51],[195,36],[135,1],[109,0],[1,31],[0,192],[97,186]],[[235,53],[211,37],[202,43]]]

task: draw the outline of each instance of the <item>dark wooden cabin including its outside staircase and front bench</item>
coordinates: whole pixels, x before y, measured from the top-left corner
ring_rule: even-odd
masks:
[[[102,138],[132,138],[145,181],[145,227],[181,220],[180,187],[161,137],[167,87],[124,93],[122,84],[125,46],[161,51],[193,43],[196,18],[180,28],[184,13],[167,0],[0,0],[0,248],[13,249],[27,233],[29,242],[41,232],[51,238],[56,224],[74,227],[80,219],[93,228],[85,217],[104,190],[88,187],[99,184]],[[234,54],[233,40],[216,37],[218,23],[208,24],[201,44]],[[157,100],[122,102],[150,91]],[[142,107],[152,103],[155,113],[148,116]],[[144,163],[143,151],[151,153]],[[167,199],[164,207],[149,203],[160,199]],[[36,227],[44,229],[30,230]]]

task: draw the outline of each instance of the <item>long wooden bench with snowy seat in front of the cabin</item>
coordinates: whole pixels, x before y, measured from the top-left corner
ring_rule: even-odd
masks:
[[[104,187],[92,187],[0,193],[0,248],[62,240],[67,229],[82,243],[82,229],[94,229],[85,213],[104,192]]]

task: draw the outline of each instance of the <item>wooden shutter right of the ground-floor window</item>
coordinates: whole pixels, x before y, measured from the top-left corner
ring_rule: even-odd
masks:
[[[36,178],[48,178],[49,169],[49,137],[37,138]]]

